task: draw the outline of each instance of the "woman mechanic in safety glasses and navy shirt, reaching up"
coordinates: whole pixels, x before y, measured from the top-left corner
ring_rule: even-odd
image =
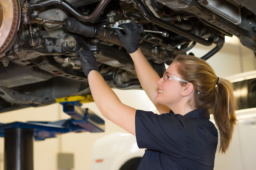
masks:
[[[120,102],[99,73],[94,55],[80,51],[77,56],[102,115],[136,136],[139,148],[147,149],[138,170],[213,170],[218,135],[209,114],[220,131],[219,151],[225,153],[236,122],[232,84],[218,78],[202,59],[188,55],[177,56],[160,78],[138,46],[143,27],[119,27],[125,31],[123,35],[116,29],[119,40],[160,115]]]

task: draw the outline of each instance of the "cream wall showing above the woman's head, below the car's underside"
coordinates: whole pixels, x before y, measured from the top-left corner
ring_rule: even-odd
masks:
[[[253,51],[242,46],[237,37],[225,37],[225,41],[223,48],[207,60],[218,77],[224,78],[256,69],[256,58]],[[215,46],[213,44],[207,47],[197,43],[189,52],[193,52],[197,57],[202,57]]]

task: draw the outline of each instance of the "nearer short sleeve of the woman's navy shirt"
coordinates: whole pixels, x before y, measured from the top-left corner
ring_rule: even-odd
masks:
[[[137,110],[135,127],[139,148],[158,150],[175,157],[185,155],[188,130],[181,115]]]

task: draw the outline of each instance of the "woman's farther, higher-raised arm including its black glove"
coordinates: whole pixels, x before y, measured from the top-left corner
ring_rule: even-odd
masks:
[[[137,25],[136,23],[121,24],[119,27],[124,29],[125,34],[119,29],[115,29],[116,34],[127,53],[129,53],[133,59],[142,88],[160,113],[169,112],[170,109],[167,106],[161,105],[154,100],[158,94],[158,85],[156,82],[160,77],[154,68],[151,67],[139,48],[140,34],[144,31],[144,28],[142,25]]]

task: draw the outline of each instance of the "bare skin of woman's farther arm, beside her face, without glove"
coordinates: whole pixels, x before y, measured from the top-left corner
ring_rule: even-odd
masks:
[[[158,73],[152,68],[140,48],[130,54],[133,59],[135,70],[140,81],[140,85],[146,92],[147,96],[153,102],[160,113],[167,113],[170,109],[166,105],[155,102],[154,98],[158,94],[158,85],[156,82],[160,79]]]

